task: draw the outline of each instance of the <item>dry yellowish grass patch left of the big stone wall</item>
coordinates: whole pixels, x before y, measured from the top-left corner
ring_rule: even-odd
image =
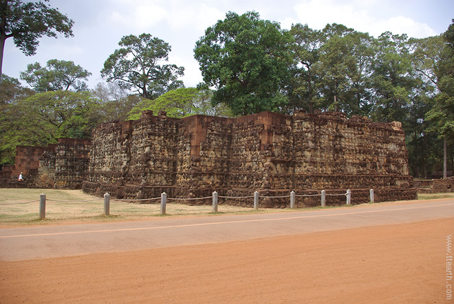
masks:
[[[160,216],[160,201],[153,204],[137,204],[111,200],[110,215],[104,216],[102,197],[88,195],[80,190],[65,189],[0,189],[0,225],[51,224],[87,221],[129,221]],[[46,195],[46,219],[39,220],[39,197]],[[30,202],[32,201],[32,202]],[[28,202],[27,204],[17,204]],[[219,205],[219,214],[245,213],[252,208]],[[167,216],[213,215],[212,206],[190,206],[168,201]]]

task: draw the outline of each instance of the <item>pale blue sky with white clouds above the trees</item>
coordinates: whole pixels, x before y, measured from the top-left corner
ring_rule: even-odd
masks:
[[[43,37],[34,56],[25,56],[7,39],[3,74],[19,79],[30,63],[73,61],[91,72],[89,88],[104,83],[100,70],[120,48],[122,36],[151,34],[171,45],[169,64],[185,68],[186,87],[202,82],[194,59],[195,42],[227,12],[254,10],[281,28],[307,24],[321,30],[339,23],[378,37],[383,32],[424,38],[442,34],[454,19],[453,0],[50,0],[74,21],[74,37]],[[22,85],[27,86],[21,80]]]

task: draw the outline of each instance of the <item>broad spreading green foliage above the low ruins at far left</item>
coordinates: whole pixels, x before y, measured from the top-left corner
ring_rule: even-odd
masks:
[[[1,162],[17,145],[45,146],[58,138],[90,138],[99,123],[98,100],[88,92],[50,91],[14,100],[1,114]]]

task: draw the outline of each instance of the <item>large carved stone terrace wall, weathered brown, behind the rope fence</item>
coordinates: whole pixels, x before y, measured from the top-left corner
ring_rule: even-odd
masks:
[[[168,118],[144,111],[135,121],[102,124],[92,134],[87,193],[117,198],[263,196],[345,193],[352,203],[414,199],[400,122],[347,119],[343,113],[292,116],[258,113],[239,118]],[[299,197],[296,206],[319,204]],[[209,202],[206,202],[209,204]],[[228,199],[248,205],[252,200]],[[288,206],[263,199],[261,206]],[[332,197],[327,204],[345,204]]]

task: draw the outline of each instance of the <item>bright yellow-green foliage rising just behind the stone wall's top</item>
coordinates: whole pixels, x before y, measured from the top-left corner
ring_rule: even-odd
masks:
[[[210,116],[231,116],[225,105],[211,105],[213,91],[195,87],[180,88],[168,91],[155,100],[142,100],[129,112],[129,119],[136,120],[144,110],[166,111],[167,116],[183,118],[195,114]]]

